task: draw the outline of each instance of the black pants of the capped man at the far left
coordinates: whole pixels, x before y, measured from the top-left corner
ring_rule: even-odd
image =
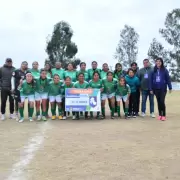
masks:
[[[1,113],[5,114],[6,112],[6,102],[7,98],[9,96],[9,105],[10,105],[10,113],[14,113],[14,99],[11,96],[11,91],[8,89],[2,89],[1,90]]]

